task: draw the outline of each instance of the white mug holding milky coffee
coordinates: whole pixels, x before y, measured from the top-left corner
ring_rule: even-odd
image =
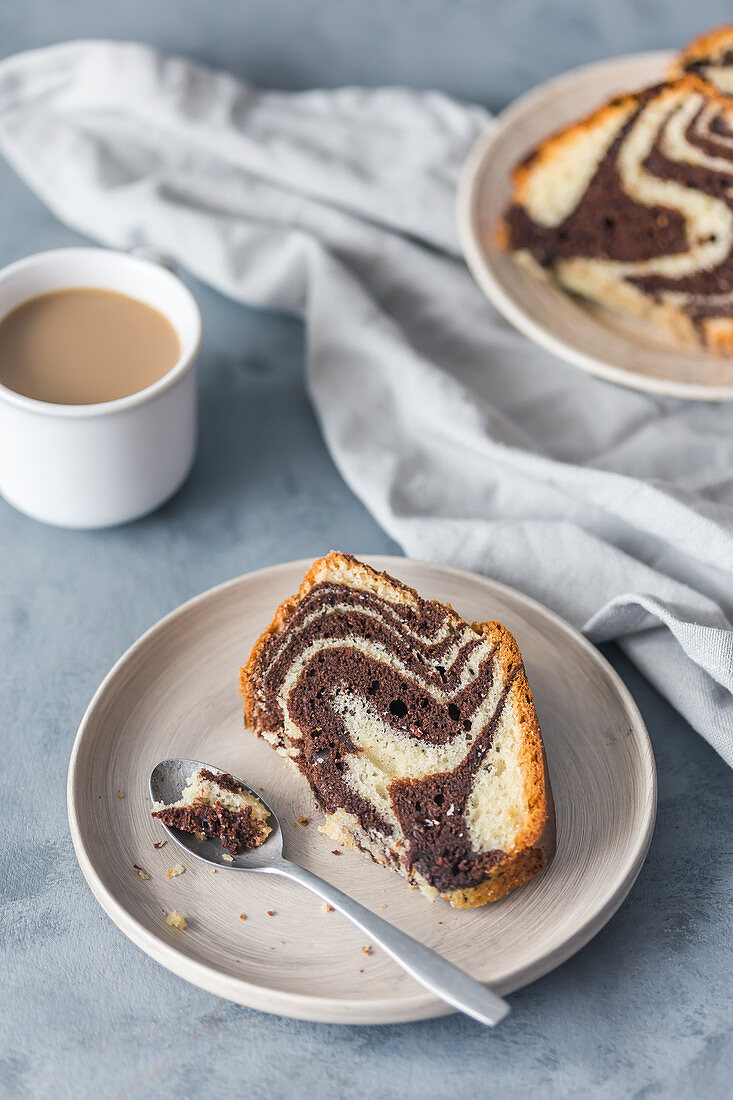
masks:
[[[0,318],[67,287],[117,290],[163,314],[178,333],[177,363],[145,389],[97,405],[53,405],[0,384],[0,493],[59,527],[111,527],[167,501],[196,453],[201,316],[162,264],[107,249],[57,249],[0,271]]]

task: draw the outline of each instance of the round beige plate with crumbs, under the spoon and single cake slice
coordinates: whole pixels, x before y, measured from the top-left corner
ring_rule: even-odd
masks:
[[[89,704],[68,773],[79,864],[133,943],[219,997],[333,1023],[418,1020],[450,1010],[386,956],[364,955],[363,936],[297,887],[263,876],[211,876],[169,843],[155,849],[163,833],[146,795],[157,760],[207,760],[264,788],[285,823],[288,855],[504,993],[558,966],[605,924],[639,871],[656,805],[644,723],[622,681],[581,635],[485,578],[402,558],[369,560],[470,619],[502,619],[516,635],[557,804],[557,856],[539,878],[493,905],[458,911],[431,904],[361,855],[331,854],[305,782],[242,728],[237,683],[250,646],[275,606],[297,590],[307,561],[205,592],[143,635]],[[310,820],[305,827],[293,824],[300,815]],[[179,861],[185,873],[166,878]],[[173,909],[188,922],[184,932],[165,923],[164,911]]]

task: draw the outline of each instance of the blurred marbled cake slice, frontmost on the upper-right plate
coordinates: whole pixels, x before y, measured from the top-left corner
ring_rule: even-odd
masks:
[[[514,174],[500,240],[564,287],[733,353],[733,100],[697,76],[611,100]]]

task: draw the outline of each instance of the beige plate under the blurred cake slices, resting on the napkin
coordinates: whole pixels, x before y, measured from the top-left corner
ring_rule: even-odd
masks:
[[[555,355],[609,382],[670,397],[733,400],[733,359],[674,344],[646,322],[590,306],[521,267],[496,245],[514,165],[554,130],[609,96],[661,79],[669,53],[633,54],[586,65],[512,103],[471,150],[458,190],[467,263],[507,320]]]

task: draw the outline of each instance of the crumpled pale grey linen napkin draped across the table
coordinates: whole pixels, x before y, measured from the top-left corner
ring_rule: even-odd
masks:
[[[333,460],[407,554],[619,639],[733,765],[733,407],[600,382],[496,315],[453,227],[489,124],[435,92],[262,92],[135,44],[0,63],[0,150],[63,221],[304,316]]]

